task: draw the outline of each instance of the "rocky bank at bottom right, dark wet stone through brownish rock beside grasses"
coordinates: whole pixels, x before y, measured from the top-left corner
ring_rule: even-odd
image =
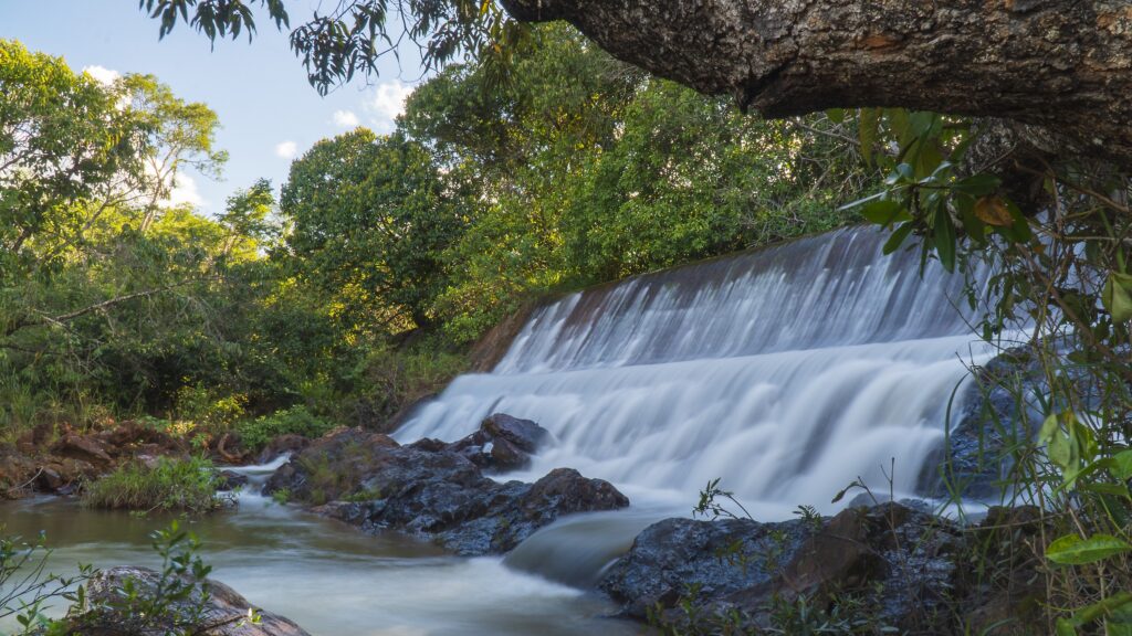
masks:
[[[889,502],[780,523],[669,518],[599,588],[625,616],[680,634],[1034,633],[1044,598],[1035,509],[961,526]],[[766,631],[770,630],[770,631]],[[783,631],[784,630],[784,631]],[[795,631],[797,630],[797,631]]]

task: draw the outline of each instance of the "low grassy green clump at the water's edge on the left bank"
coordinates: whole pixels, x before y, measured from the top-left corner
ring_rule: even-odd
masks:
[[[119,466],[88,484],[83,502],[95,508],[207,513],[232,501],[217,495],[217,481],[208,459],[161,457],[152,465]]]

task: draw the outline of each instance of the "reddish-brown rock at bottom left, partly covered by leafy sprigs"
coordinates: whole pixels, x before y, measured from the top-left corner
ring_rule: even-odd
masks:
[[[161,636],[166,633],[186,629],[183,626],[158,625],[146,626],[142,629],[134,629],[130,626],[137,622],[136,616],[125,614],[122,610],[114,609],[114,605],[122,605],[122,586],[127,581],[132,581],[137,590],[145,593],[153,593],[157,587],[161,576],[158,573],[140,567],[117,567],[104,570],[95,576],[87,584],[87,598],[93,607],[106,608],[102,612],[87,612],[74,618],[74,624],[82,626],[75,633],[89,636],[111,636],[130,634],[131,636]],[[192,579],[182,578],[187,583]],[[268,611],[258,610],[260,621],[258,625],[243,624],[240,620],[248,616],[249,609],[255,605],[247,599],[238,594],[234,590],[217,581],[207,579],[211,596],[205,604],[200,624],[195,626],[194,634],[204,633],[207,629],[212,636],[310,636],[294,622]],[[200,590],[197,586],[188,599],[173,602],[173,610],[180,609],[182,613],[196,607],[200,602]]]

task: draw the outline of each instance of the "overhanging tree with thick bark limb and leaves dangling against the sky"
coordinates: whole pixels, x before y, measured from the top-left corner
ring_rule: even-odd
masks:
[[[1001,118],[1045,152],[1132,161],[1132,11],[1120,0],[500,2],[518,20],[565,19],[617,58],[767,117],[903,106]],[[289,24],[281,0],[142,0],[163,34],[180,16],[209,38],[250,36],[257,5]],[[391,17],[404,22],[391,28]],[[438,65],[461,52],[509,59],[526,33],[495,2],[349,0],[291,41],[325,92],[374,72],[406,36]]]

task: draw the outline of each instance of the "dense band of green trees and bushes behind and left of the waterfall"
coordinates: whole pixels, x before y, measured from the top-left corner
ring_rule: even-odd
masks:
[[[380,427],[541,294],[842,224],[849,124],[767,122],[564,27],[500,84],[453,66],[397,129],[316,144],[207,217],[216,117],[2,44],[0,433],[151,415],[223,432]],[[281,411],[280,415],[273,415]]]

